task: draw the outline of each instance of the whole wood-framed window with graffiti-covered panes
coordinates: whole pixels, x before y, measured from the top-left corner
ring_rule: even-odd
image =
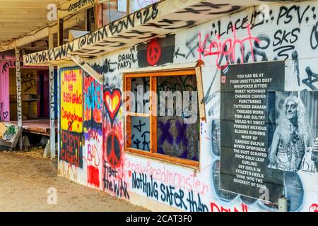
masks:
[[[125,151],[199,167],[197,87],[194,69],[126,73]]]

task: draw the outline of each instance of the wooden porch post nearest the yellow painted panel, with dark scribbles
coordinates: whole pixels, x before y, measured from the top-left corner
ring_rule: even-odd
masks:
[[[54,35],[49,34],[49,49],[54,48]],[[55,157],[55,109],[54,109],[54,66],[49,66],[49,141],[51,159]]]

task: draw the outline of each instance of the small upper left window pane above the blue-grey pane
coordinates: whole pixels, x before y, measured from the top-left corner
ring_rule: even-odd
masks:
[[[134,93],[131,112],[149,114],[150,78],[131,78],[131,92]]]

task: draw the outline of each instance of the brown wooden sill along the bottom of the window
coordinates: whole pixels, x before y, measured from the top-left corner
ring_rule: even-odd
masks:
[[[159,153],[151,153],[148,152],[146,150],[139,150],[136,148],[125,148],[125,152],[126,153],[136,153],[141,155],[141,157],[152,157],[153,159],[156,160],[165,160],[166,162],[170,162],[170,163],[175,163],[175,164],[179,164],[179,165],[184,165],[184,166],[191,166],[191,167],[196,167],[196,169],[199,169],[199,162],[193,161],[193,160],[186,160],[183,158],[179,158],[179,157],[173,157],[170,155],[163,155],[163,154],[159,154]]]

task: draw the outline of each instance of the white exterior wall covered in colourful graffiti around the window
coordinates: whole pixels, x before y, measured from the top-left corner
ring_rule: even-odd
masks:
[[[68,84],[61,86],[61,102],[68,100],[63,100],[63,92],[76,93],[76,90],[81,93],[81,101],[72,102],[73,108],[69,105],[65,114],[61,112],[61,129],[66,135],[63,138],[61,134],[60,139],[59,174],[121,198],[131,199],[131,194],[138,194],[184,211],[277,211],[275,205],[219,187],[220,74],[232,64],[285,61],[284,91],[307,90],[317,96],[314,91],[318,89],[318,1],[270,4],[264,14],[260,11],[258,7],[247,8],[89,61],[104,76],[103,85],[81,69],[61,66],[60,76],[64,74],[60,85]],[[160,49],[160,54],[151,48]],[[199,170],[125,153],[120,101],[124,91],[122,70],[193,63],[200,59],[204,61],[202,79],[207,119],[199,122]],[[78,88],[69,90],[70,85]],[[307,95],[302,98],[308,112],[310,107],[317,109],[316,99],[305,100]],[[83,109],[76,105],[82,105]],[[74,112],[78,114],[77,127],[70,122],[70,114]],[[308,114],[317,117],[316,113]],[[317,119],[310,120],[312,124],[317,123]],[[70,128],[73,130],[67,131]],[[312,131],[312,136],[317,138],[316,130]],[[65,143],[69,142],[76,143],[77,148],[68,153],[70,147]],[[312,164],[314,167],[315,163]],[[303,166],[298,172],[283,174],[283,194],[290,201],[290,211],[317,210],[317,191],[317,170]],[[151,204],[145,207],[152,208]]]

